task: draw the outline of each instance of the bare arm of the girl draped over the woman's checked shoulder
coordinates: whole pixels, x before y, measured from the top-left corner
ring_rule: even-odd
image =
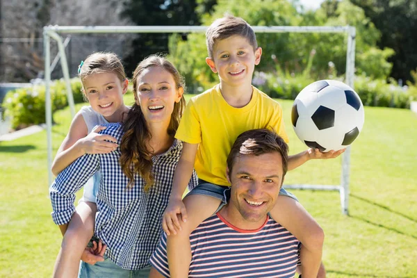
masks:
[[[97,126],[92,133],[98,133],[103,129],[106,128],[104,126]],[[65,167],[73,163],[76,158],[79,158],[83,154],[111,152],[117,147],[117,144],[104,140],[116,142],[115,138],[106,134],[91,134],[89,136],[83,115],[81,113],[76,114],[74,120],[72,120],[70,131],[68,131],[67,136],[56,153],[54,162],[52,163],[52,173],[57,176]]]

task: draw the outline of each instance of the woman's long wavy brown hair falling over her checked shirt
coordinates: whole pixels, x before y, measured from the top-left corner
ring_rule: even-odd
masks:
[[[133,72],[133,93],[135,94],[135,99],[137,99],[136,96],[138,94],[138,76],[149,67],[163,67],[164,70],[172,74],[177,90],[179,88],[185,90],[185,80],[174,65],[163,56],[152,55],[142,60]],[[181,120],[185,106],[186,100],[183,96],[178,103],[174,104],[174,111],[172,111],[170,125],[167,129],[167,133],[171,137],[174,137],[178,129],[179,120]],[[152,135],[149,133],[142,110],[136,102],[127,114],[123,123],[123,131],[124,134],[120,144],[122,152],[120,165],[126,177],[129,178],[127,188],[133,187],[135,183],[134,174],[139,173],[140,177],[146,181],[145,191],[149,190],[154,184],[152,152],[149,152],[149,149],[147,149],[147,143],[151,140]]]

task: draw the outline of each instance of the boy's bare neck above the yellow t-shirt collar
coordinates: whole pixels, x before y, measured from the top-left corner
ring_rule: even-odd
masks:
[[[227,104],[235,108],[242,108],[252,99],[253,88],[251,84],[230,86],[220,82],[220,92]]]

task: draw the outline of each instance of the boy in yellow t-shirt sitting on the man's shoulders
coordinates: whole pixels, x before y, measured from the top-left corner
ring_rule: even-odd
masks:
[[[188,276],[191,231],[213,215],[220,202],[227,201],[224,190],[230,185],[226,161],[237,136],[250,129],[267,128],[277,131],[288,142],[281,107],[252,86],[254,66],[259,65],[262,49],[249,24],[232,16],[217,19],[206,31],[206,44],[209,56],[206,63],[218,74],[220,84],[190,100],[175,136],[184,144],[163,216],[171,277]],[[324,154],[318,149],[308,149],[288,158],[288,170],[310,159],[334,158],[342,152]],[[200,179],[199,186],[181,201],[193,166]],[[245,172],[240,173],[240,179],[252,182]],[[262,209],[268,201],[257,192],[247,192],[243,197],[245,205],[252,208]],[[181,224],[177,214],[181,214]],[[316,277],[324,240],[320,226],[284,189],[280,190],[270,215],[302,243],[303,278]]]

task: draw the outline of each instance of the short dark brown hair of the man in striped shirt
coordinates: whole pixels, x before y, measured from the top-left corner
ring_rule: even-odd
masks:
[[[245,131],[236,138],[229,156],[227,156],[227,167],[229,174],[233,168],[234,162],[238,156],[259,156],[261,154],[269,154],[278,152],[282,157],[282,167],[284,176],[288,169],[288,145],[277,133],[269,129],[251,129]]]

